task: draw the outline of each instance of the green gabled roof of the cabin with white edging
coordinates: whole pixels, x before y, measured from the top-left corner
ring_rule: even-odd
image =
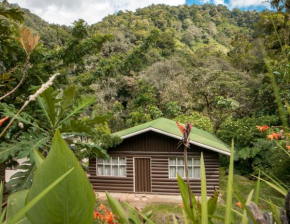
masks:
[[[166,118],[159,118],[145,124],[141,124],[132,128],[125,129],[123,131],[119,131],[114,133],[114,135],[119,136],[122,139],[130,138],[135,135],[139,135],[141,133],[147,131],[154,131],[160,134],[164,134],[176,139],[182,139],[183,135],[179,130],[178,126],[176,125],[175,121],[166,119]],[[190,133],[190,143],[216,151],[225,155],[231,155],[230,148],[219,140],[217,137],[212,135],[207,131],[203,131],[192,127]]]

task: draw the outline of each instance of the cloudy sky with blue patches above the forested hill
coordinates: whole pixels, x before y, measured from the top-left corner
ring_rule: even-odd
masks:
[[[84,19],[88,24],[101,21],[105,16],[119,10],[134,11],[151,4],[223,4],[230,9],[262,10],[269,5],[264,0],[9,0],[40,16],[49,23],[72,25],[75,20]]]

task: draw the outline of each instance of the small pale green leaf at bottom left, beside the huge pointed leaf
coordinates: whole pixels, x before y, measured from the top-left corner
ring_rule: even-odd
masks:
[[[25,199],[28,194],[28,190],[18,191],[11,194],[7,201],[7,216],[6,219],[9,222],[22,208],[25,206]],[[31,224],[25,215],[20,218],[19,224]]]

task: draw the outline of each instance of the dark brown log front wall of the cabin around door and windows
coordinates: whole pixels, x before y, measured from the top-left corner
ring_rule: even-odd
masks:
[[[110,149],[108,153],[110,156],[126,157],[127,177],[97,176],[96,159],[92,159],[89,161],[89,174],[94,190],[133,193],[133,158],[150,157],[151,193],[178,194],[177,180],[168,178],[168,159],[170,157],[183,157],[183,150],[176,149],[178,141],[151,131],[124,139],[120,145]],[[191,145],[188,157],[200,158],[201,151],[204,154],[208,194],[212,194],[214,187],[219,187],[219,156],[217,152]],[[190,184],[192,191],[196,195],[200,195],[200,180],[191,179]]]

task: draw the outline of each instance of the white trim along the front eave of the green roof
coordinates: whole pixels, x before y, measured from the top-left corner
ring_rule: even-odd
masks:
[[[145,132],[147,132],[147,131],[154,131],[154,132],[157,132],[157,133],[159,133],[159,134],[163,134],[163,135],[166,135],[166,136],[169,136],[169,137],[172,137],[172,138],[176,138],[176,139],[179,139],[179,140],[182,139],[182,137],[180,137],[180,136],[178,136],[178,135],[170,134],[170,133],[168,133],[168,132],[161,131],[161,130],[159,130],[159,129],[152,128],[152,127],[145,128],[145,129],[143,129],[143,130],[136,131],[136,132],[133,132],[133,133],[128,134],[128,135],[121,136],[120,138],[121,138],[121,139],[130,138],[130,137],[133,137],[133,136],[136,136],[136,135],[139,135],[139,134],[145,133]],[[212,151],[215,151],[215,152],[218,152],[218,153],[221,153],[221,154],[227,155],[227,156],[230,156],[230,155],[231,155],[230,152],[227,152],[227,151],[224,151],[224,150],[221,150],[221,149],[218,149],[218,148],[212,147],[212,146],[208,146],[208,145],[205,145],[205,144],[202,144],[202,143],[199,143],[199,142],[195,142],[195,141],[190,140],[190,143],[193,144],[193,145],[200,146],[200,147],[205,148],[205,149],[209,149],[209,150],[212,150]]]

